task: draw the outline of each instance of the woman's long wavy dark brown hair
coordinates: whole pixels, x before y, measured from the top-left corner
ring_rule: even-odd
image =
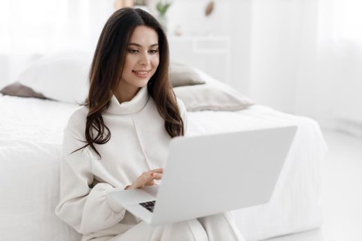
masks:
[[[103,121],[112,98],[112,90],[121,79],[128,43],[137,26],[154,29],[159,36],[159,66],[148,81],[148,93],[154,99],[160,116],[165,120],[165,129],[171,137],[183,136],[184,124],[176,96],[170,84],[170,54],[168,40],[160,23],[151,14],[141,9],[121,8],[112,14],[105,23],[99,37],[90,67],[90,89],[83,105],[89,108],[86,121],[86,143],[101,159],[96,145],[108,143],[110,129]],[[120,64],[121,63],[121,64]],[[73,152],[75,152],[73,151]]]

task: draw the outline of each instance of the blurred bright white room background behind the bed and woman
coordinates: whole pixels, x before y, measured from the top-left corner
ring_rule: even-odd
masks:
[[[362,136],[362,1],[0,0],[0,87],[40,56],[92,52],[105,21],[139,5],[165,22],[171,58],[256,103]]]

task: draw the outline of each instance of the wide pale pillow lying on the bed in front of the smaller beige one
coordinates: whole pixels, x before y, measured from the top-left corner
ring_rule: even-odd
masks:
[[[253,105],[232,87],[221,83],[207,74],[199,72],[204,85],[175,87],[174,93],[183,101],[189,112],[202,110],[236,111]]]

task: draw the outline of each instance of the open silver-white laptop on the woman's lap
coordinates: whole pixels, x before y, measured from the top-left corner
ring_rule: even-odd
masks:
[[[150,224],[168,224],[268,202],[296,127],[171,140],[161,185],[108,193]]]

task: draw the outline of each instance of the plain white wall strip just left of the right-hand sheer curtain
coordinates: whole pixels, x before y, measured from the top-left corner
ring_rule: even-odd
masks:
[[[252,1],[250,98],[294,113],[301,0]]]

